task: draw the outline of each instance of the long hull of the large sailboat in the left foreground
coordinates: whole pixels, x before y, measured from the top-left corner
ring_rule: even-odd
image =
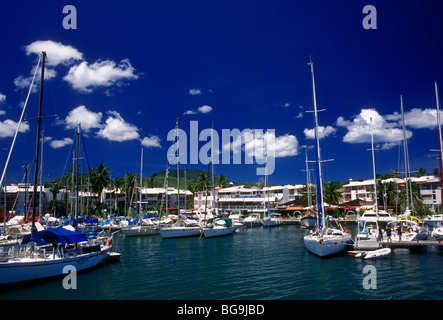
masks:
[[[80,254],[72,258],[61,259],[30,259],[22,258],[0,263],[0,284],[11,284],[30,280],[38,280],[67,274],[65,267],[75,267],[82,271],[95,267],[108,257],[111,247],[100,251]],[[69,269],[72,270],[72,269]]]

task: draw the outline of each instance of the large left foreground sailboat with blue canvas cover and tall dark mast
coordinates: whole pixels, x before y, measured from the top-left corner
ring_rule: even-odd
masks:
[[[39,170],[39,149],[42,119],[43,82],[46,52],[42,52],[38,62],[42,62],[40,99],[37,117],[37,143],[35,156],[34,192],[31,234],[24,236],[21,249],[12,248],[0,260],[0,284],[10,284],[61,276],[65,266],[76,271],[97,266],[111,253],[112,236],[89,237],[85,233],[67,230],[63,227],[37,231],[37,178]],[[37,69],[36,69],[37,70]],[[34,76],[35,77],[35,76]],[[31,83],[31,88],[33,83]]]

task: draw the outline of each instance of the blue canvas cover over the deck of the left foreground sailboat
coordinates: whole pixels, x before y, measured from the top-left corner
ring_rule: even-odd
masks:
[[[37,245],[42,246],[48,243],[77,243],[88,241],[86,234],[82,232],[76,232],[67,230],[63,227],[49,228],[43,231],[36,232],[35,234],[25,235],[22,240],[22,244],[29,242],[35,242]]]

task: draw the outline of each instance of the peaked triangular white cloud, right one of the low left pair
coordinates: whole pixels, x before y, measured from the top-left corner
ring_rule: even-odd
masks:
[[[127,123],[117,111],[108,111],[108,114],[106,124],[97,133],[99,137],[118,142],[139,138],[137,127]]]

